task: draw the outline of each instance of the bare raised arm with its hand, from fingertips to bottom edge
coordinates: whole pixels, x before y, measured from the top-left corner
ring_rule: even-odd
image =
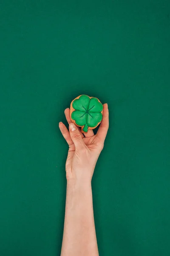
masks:
[[[90,129],[82,134],[80,128],[71,122],[69,108],[65,109],[69,131],[59,122],[59,129],[69,146],[65,164],[67,192],[61,256],[99,256],[91,179],[108,132],[108,116],[108,105],[104,104],[96,135]]]

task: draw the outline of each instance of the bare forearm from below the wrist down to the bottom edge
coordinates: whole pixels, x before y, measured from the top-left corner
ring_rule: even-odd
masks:
[[[61,256],[98,256],[91,183],[67,185]]]

